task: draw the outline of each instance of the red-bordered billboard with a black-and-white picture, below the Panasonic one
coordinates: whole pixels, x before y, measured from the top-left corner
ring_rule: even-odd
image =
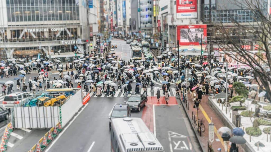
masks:
[[[183,25],[177,26],[177,40],[179,45],[199,45],[207,39],[207,25]]]

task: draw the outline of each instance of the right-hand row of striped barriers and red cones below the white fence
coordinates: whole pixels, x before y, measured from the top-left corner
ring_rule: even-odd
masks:
[[[52,127],[43,137],[40,138],[37,144],[35,144],[28,152],[42,152],[51,143],[51,141],[57,137],[62,131],[61,123],[57,123]],[[2,152],[2,151],[1,151]]]

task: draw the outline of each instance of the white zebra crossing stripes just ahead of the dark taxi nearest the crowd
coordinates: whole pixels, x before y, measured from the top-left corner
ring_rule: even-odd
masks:
[[[131,94],[128,94],[127,97],[130,97],[131,95],[135,95],[134,90],[131,91]],[[144,93],[144,90],[141,88],[139,91],[140,94]],[[169,88],[169,96],[170,97],[177,97],[175,88]],[[107,95],[107,94],[101,94],[101,96],[97,96],[96,94],[93,94],[93,92],[90,93],[91,98],[107,98],[107,97],[126,97],[126,94],[124,94],[123,91],[120,89],[115,92],[114,95]],[[163,97],[163,90],[160,90],[160,96]],[[147,97],[157,97],[156,92],[152,92],[151,88],[147,88]]]

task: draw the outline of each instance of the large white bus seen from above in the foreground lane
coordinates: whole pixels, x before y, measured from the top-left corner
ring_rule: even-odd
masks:
[[[111,152],[164,152],[141,118],[115,118],[111,123]]]

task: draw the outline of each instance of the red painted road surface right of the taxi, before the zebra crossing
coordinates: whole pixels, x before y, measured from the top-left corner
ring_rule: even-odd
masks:
[[[166,101],[164,100],[164,97],[160,98],[160,101],[157,100],[156,97],[147,97],[148,101],[146,104],[146,107],[143,108],[143,112],[142,112],[142,120],[144,121],[144,123],[147,125],[147,127],[149,128],[149,130],[151,132],[153,132],[153,105],[154,104],[166,104]],[[169,105],[176,105],[177,100],[175,97],[169,97]]]

